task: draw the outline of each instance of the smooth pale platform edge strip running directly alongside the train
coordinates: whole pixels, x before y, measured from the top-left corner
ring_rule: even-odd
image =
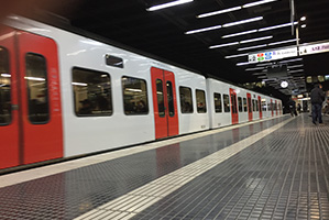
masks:
[[[262,120],[257,120],[257,121],[234,124],[234,125],[230,125],[230,127],[219,128],[216,130],[205,131],[201,133],[190,134],[187,136],[178,136],[178,138],[171,139],[171,140],[153,142],[150,144],[141,144],[138,146],[128,147],[128,148],[123,148],[123,150],[117,150],[117,151],[109,152],[109,153],[103,153],[103,154],[88,156],[88,157],[78,158],[78,160],[74,160],[74,161],[63,162],[59,164],[53,164],[53,165],[47,165],[47,166],[33,168],[33,169],[29,169],[29,170],[2,175],[2,176],[0,176],[0,188],[15,185],[15,184],[21,184],[21,183],[29,182],[29,180],[34,180],[37,178],[43,178],[46,176],[51,176],[51,175],[55,175],[55,174],[59,174],[59,173],[64,173],[64,172],[69,172],[69,170],[76,169],[76,168],[99,164],[102,162],[120,158],[123,156],[129,156],[132,154],[158,148],[162,146],[176,144],[176,143],[179,143],[183,141],[189,141],[193,139],[198,139],[198,138],[207,136],[210,134],[216,134],[216,133],[224,132],[228,130],[245,127],[249,124],[270,121],[270,120],[283,118],[283,117],[285,117],[285,116],[278,116],[278,117],[274,117],[274,118],[266,118],[266,119],[262,119]]]

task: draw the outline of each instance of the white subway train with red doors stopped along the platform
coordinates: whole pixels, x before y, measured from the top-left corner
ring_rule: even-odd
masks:
[[[281,114],[278,99],[70,31],[17,15],[0,29],[0,170]]]

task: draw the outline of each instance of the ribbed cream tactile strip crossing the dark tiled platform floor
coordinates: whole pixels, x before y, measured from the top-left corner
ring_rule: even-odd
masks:
[[[194,180],[201,174],[210,170],[226,160],[234,156],[239,152],[245,150],[255,142],[289,123],[292,120],[294,120],[294,118],[290,118],[270,129],[266,129],[240,142],[237,142],[226,148],[215,152],[197,162],[194,162],[175,172],[162,176],[140,188],[128,193],[127,195],[123,195],[89,212],[86,212],[80,217],[77,217],[75,220],[95,220],[97,219],[97,216],[106,215],[107,212],[105,212],[105,210],[108,211],[108,213],[121,212],[121,219],[130,219],[144,209],[149,208],[150,206],[154,205],[155,202],[160,201],[164,197],[174,193],[178,188]]]

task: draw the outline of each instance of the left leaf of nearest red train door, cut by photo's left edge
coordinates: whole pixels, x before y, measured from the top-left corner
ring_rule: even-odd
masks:
[[[0,26],[0,168],[20,164],[14,35],[13,29]]]

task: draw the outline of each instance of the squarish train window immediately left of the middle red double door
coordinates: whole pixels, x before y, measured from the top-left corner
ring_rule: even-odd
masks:
[[[144,79],[122,77],[122,91],[125,114],[149,113],[147,87]]]

